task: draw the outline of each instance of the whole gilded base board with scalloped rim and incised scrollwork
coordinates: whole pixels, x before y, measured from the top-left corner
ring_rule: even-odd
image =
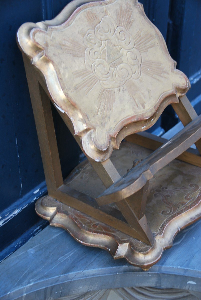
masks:
[[[132,161],[151,153],[144,147],[123,142],[111,160],[122,176]],[[36,212],[50,225],[66,229],[77,241],[87,246],[108,250],[114,259],[125,258],[145,270],[155,264],[163,250],[172,246],[175,235],[201,216],[201,170],[174,160],[150,180],[145,215],[155,241],[149,246],[114,229],[50,196],[36,202]],[[84,161],[64,184],[92,198],[105,189],[89,162]],[[113,204],[112,204],[113,205]],[[114,206],[114,205],[113,205]]]

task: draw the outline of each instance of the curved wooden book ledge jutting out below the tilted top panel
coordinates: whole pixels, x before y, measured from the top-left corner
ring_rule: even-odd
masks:
[[[120,201],[140,190],[161,168],[169,164],[201,137],[201,115],[154,151],[97,198],[99,205]]]

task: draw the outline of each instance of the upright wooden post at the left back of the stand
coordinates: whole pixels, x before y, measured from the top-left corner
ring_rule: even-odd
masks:
[[[50,99],[38,83],[30,60],[23,55],[48,193],[63,183]]]

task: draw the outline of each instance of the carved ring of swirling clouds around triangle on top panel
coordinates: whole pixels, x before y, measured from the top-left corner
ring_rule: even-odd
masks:
[[[110,16],[84,36],[85,66],[105,89],[119,88],[141,75],[142,56],[134,48],[132,35]]]

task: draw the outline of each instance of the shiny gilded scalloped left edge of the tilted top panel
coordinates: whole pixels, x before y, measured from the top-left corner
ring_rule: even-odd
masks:
[[[51,99],[56,108],[69,117],[74,128],[74,134],[82,136],[83,132],[90,128],[89,120],[79,108],[75,110],[74,104],[62,90],[52,62],[44,55],[44,49],[34,43],[33,34],[35,32],[39,30],[46,34],[46,30],[43,29],[44,26],[41,28],[38,24],[42,26],[43,23],[27,22],[20,26],[16,35],[17,44],[20,50],[29,57],[31,64],[43,74]]]

